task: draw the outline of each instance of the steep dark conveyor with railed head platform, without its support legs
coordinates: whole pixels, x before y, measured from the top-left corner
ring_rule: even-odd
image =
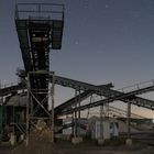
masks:
[[[52,3],[18,3],[15,24],[25,74],[50,70],[50,51],[61,50],[64,28],[64,6]],[[48,92],[48,78],[45,74],[31,74],[30,88],[34,98],[42,102]],[[29,89],[30,89],[29,88]],[[43,92],[40,90],[43,90]],[[33,91],[32,91],[33,92]],[[37,106],[33,99],[33,109]],[[43,103],[47,109],[47,100]],[[40,109],[38,114],[45,114]]]

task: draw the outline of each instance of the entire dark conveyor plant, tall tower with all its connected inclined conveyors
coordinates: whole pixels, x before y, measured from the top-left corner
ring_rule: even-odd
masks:
[[[9,138],[11,131],[19,132],[19,135],[23,134],[29,143],[31,132],[37,128],[38,121],[43,121],[51,130],[51,140],[54,142],[58,118],[68,114],[73,118],[69,124],[74,128],[73,135],[77,136],[77,128],[82,127],[80,123],[82,110],[103,107],[116,100],[128,103],[128,123],[131,120],[131,105],[154,110],[154,101],[139,97],[154,90],[154,80],[136,84],[129,91],[127,88],[114,90],[112,84],[96,86],[61,77],[50,70],[51,50],[62,48],[64,11],[63,4],[19,3],[15,7],[15,26],[24,70],[18,72],[21,82],[0,88],[0,140]],[[48,86],[50,84],[52,87]],[[75,90],[74,98],[56,108],[54,108],[55,84]],[[94,94],[105,99],[81,105],[82,100]],[[26,101],[10,105],[9,100],[14,96]],[[50,97],[52,110],[48,109]],[[123,112],[117,108],[112,108],[112,111]],[[12,130],[8,130],[8,125],[9,128],[11,125]]]

